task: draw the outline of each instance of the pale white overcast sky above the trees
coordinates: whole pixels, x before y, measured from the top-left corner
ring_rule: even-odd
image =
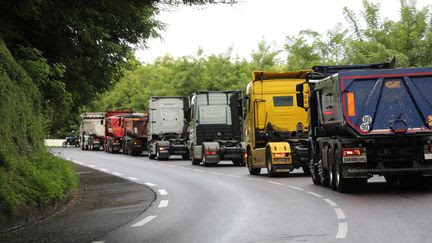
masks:
[[[372,0],[381,6],[381,16],[400,17],[399,0]],[[429,6],[430,0],[417,0],[417,6]],[[287,36],[304,29],[325,33],[337,23],[346,23],[342,8],[347,6],[361,14],[362,0],[240,0],[234,5],[181,6],[160,12],[157,19],[166,24],[162,39],[150,39],[147,49],[136,56],[152,62],[158,56],[225,53],[249,59],[258,42],[265,40],[282,49]],[[348,27],[348,26],[346,26]]]

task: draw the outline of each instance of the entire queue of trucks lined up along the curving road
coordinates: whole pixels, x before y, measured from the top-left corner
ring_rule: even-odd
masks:
[[[151,97],[146,113],[84,113],[82,149],[193,165],[231,160],[250,174],[303,168],[344,192],[373,175],[389,183],[432,176],[432,68],[389,63],[253,72],[241,91]]]

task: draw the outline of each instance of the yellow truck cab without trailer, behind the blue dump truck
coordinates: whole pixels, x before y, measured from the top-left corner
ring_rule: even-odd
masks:
[[[251,175],[267,168],[269,176],[308,169],[308,104],[307,95],[300,96],[296,85],[304,84],[309,71],[253,72],[244,97],[246,116],[244,139],[245,161]],[[304,97],[297,100],[297,96]],[[299,106],[299,104],[301,104]]]

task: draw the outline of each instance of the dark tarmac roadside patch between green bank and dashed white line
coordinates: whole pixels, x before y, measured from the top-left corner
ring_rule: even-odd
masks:
[[[80,184],[66,204],[40,212],[43,219],[0,234],[0,242],[91,242],[129,223],[156,199],[145,185],[77,164],[74,168]],[[14,220],[9,226],[17,223],[24,222]]]

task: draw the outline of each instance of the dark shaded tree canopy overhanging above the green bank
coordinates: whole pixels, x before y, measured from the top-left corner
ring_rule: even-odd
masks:
[[[158,36],[163,28],[155,19],[159,8],[209,2],[232,1],[4,0],[0,38],[15,57],[47,61],[48,66],[34,67],[44,72],[38,87],[46,101],[49,132],[63,136],[79,108],[121,77],[133,46],[145,46],[149,37]]]

